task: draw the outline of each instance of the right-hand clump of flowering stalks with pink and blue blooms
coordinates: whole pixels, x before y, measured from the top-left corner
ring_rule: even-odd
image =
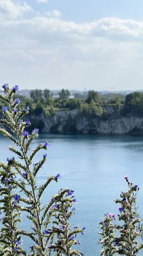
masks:
[[[99,234],[102,239],[99,243],[103,247],[101,255],[109,256],[117,253],[117,255],[136,256],[143,249],[142,219],[136,206],[139,187],[130,183],[127,176],[124,179],[128,184],[128,191],[122,192],[120,198],[115,200],[115,203],[120,203],[117,224],[112,223],[113,217],[109,214],[100,222],[102,232]]]

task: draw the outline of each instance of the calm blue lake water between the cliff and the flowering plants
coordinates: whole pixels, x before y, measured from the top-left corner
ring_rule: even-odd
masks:
[[[113,200],[120,191],[126,191],[126,174],[140,187],[138,206],[143,216],[143,137],[42,134],[32,147],[45,141],[50,143],[48,160],[40,171],[38,183],[42,185],[50,174],[60,173],[61,178],[48,187],[43,202],[61,188],[73,189],[78,202],[72,223],[86,227],[85,235],[79,236],[79,249],[87,256],[99,256],[98,223],[107,212],[117,215],[118,205]],[[0,136],[0,161],[12,156],[8,146],[9,141]],[[43,154],[40,152],[39,159]],[[23,226],[26,228],[28,222]]]

